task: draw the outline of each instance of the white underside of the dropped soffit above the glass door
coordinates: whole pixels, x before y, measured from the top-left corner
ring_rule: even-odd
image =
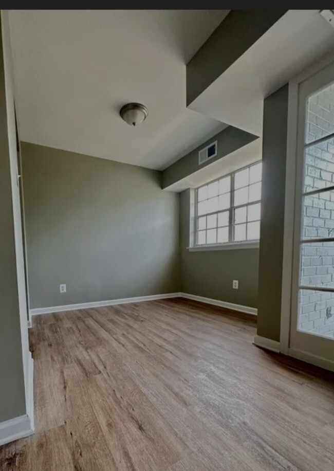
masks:
[[[191,108],[261,136],[263,99],[333,49],[319,10],[288,10]]]

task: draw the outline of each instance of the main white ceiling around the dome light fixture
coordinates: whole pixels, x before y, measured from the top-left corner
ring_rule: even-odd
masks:
[[[163,169],[224,129],[185,106],[185,64],[228,10],[10,10],[20,138]],[[131,128],[131,101],[149,117]]]

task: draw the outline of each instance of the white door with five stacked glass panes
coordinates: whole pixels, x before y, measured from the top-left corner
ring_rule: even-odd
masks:
[[[290,348],[334,361],[334,66],[299,86]]]

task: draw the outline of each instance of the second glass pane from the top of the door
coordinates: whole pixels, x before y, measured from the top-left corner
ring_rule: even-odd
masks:
[[[334,186],[334,138],[305,149],[304,192]]]

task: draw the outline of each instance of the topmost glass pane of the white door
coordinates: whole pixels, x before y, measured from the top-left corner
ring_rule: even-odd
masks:
[[[306,142],[334,132],[334,85],[314,93],[307,100]]]

